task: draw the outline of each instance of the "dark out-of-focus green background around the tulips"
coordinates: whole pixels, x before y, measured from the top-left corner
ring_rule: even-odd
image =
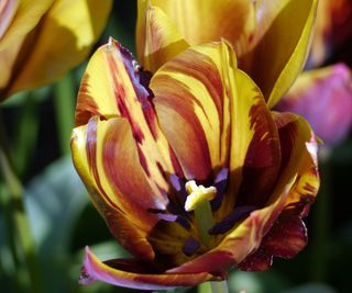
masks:
[[[116,1],[108,26],[96,46],[106,43],[111,35],[134,53],[135,15],[135,1]],[[344,61],[351,68],[351,56],[350,38],[326,65]],[[40,257],[43,292],[136,292],[102,283],[81,286],[77,282],[86,245],[101,259],[128,256],[90,204],[70,160],[75,99],[85,67],[82,64],[55,84],[19,93],[2,103],[3,131],[25,187],[25,209]],[[323,119],[323,113],[321,115]],[[306,219],[309,230],[306,249],[293,260],[275,259],[272,269],[265,272],[233,270],[229,280],[231,292],[243,289],[248,293],[352,291],[351,132],[338,145],[321,147],[320,169],[322,188]],[[2,179],[0,188],[0,292],[30,292],[26,291],[28,268],[23,263],[18,266],[10,257],[8,235],[11,227],[9,230],[4,224],[7,199]]]

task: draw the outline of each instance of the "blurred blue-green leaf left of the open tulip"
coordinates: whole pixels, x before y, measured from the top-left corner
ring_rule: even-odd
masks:
[[[72,232],[88,195],[69,157],[36,176],[25,189],[25,205],[45,280],[45,292],[70,292]],[[77,271],[78,278],[79,271]]]

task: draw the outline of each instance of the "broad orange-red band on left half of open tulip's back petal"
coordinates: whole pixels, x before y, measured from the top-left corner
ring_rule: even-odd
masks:
[[[207,138],[195,115],[191,97],[184,83],[168,76],[154,79],[155,108],[161,128],[187,178],[206,180],[211,173]],[[186,99],[186,97],[188,99]]]

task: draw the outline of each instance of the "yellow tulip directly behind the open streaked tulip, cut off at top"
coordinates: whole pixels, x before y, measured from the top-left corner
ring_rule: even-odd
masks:
[[[270,108],[300,72],[317,0],[139,0],[138,56],[155,72],[189,45],[228,40]]]

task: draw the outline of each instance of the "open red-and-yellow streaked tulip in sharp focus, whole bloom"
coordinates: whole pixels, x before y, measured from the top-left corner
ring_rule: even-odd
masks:
[[[110,40],[84,75],[72,151],[133,257],[101,261],[87,247],[82,284],[193,286],[306,245],[315,135],[300,116],[270,111],[226,41],[191,46],[151,77]]]

